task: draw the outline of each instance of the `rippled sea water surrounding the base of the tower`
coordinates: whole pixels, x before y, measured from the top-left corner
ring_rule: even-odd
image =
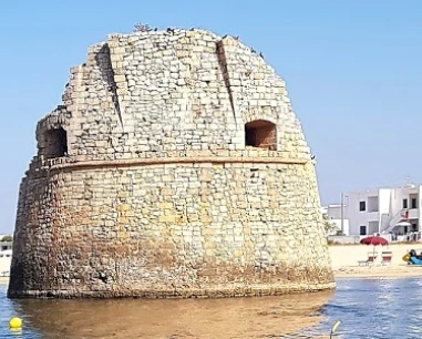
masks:
[[[11,317],[23,318],[11,332]],[[192,300],[9,300],[0,338],[422,338],[422,279],[339,279],[336,292]],[[309,335],[309,337],[307,337]]]

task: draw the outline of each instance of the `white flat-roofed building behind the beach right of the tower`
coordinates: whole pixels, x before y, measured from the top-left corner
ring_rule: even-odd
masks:
[[[421,185],[408,184],[347,193],[343,218],[348,219],[349,234],[406,236],[421,232]],[[330,213],[328,215],[330,217]]]

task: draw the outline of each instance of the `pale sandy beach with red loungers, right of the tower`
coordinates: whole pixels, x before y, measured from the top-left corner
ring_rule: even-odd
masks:
[[[409,249],[415,249],[418,254],[422,250],[421,244],[400,244],[389,246],[364,246],[364,245],[331,245],[332,269],[336,278],[405,278],[422,277],[422,266],[406,265],[402,257]],[[391,251],[390,265],[381,265],[382,251]],[[368,258],[369,254],[378,256],[374,264],[359,266],[359,260]]]

